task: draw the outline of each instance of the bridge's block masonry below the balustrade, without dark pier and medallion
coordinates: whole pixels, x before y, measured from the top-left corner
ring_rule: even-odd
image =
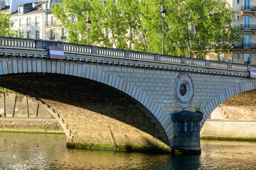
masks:
[[[74,59],[78,54],[66,55]],[[202,127],[220,103],[256,89],[255,79],[237,70],[83,57],[86,62],[36,57],[0,60],[0,86],[50,106],[66,125],[68,145],[78,147],[170,149],[175,143],[173,113],[195,112],[201,106]],[[191,79],[192,96],[182,105],[185,108],[174,98],[175,79],[181,74]]]

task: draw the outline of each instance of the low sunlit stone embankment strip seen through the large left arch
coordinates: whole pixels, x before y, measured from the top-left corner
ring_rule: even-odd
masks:
[[[0,131],[63,132],[55,118],[0,118]]]

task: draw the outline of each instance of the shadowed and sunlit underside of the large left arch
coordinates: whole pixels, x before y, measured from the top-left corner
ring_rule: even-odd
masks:
[[[118,149],[166,149],[159,120],[141,103],[106,84],[63,74],[9,74],[0,86],[53,108],[68,125],[71,145]]]

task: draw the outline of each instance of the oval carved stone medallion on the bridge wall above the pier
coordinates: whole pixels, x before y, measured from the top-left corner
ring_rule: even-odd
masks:
[[[181,108],[187,108],[193,98],[193,81],[188,74],[179,74],[174,81],[174,100]]]

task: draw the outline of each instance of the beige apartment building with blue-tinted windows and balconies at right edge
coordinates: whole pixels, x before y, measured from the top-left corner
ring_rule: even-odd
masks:
[[[235,13],[233,26],[241,27],[242,42],[234,42],[229,52],[213,50],[207,60],[256,64],[256,1],[227,0]]]

